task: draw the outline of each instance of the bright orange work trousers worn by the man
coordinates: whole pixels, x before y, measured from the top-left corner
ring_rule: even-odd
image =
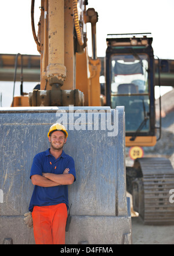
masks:
[[[36,244],[65,244],[66,204],[34,206],[32,219]]]

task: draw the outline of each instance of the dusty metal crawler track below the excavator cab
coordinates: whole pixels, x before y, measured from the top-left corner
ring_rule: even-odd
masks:
[[[139,214],[144,224],[165,225],[174,223],[174,203],[169,191],[174,189],[174,171],[165,158],[136,159],[135,169],[141,169],[139,178]]]

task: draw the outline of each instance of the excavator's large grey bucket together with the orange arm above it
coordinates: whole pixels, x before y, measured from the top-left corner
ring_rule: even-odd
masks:
[[[40,83],[29,95],[21,85],[21,96],[13,97],[11,107],[0,109],[0,243],[35,243],[32,227],[24,223],[33,191],[32,159],[49,148],[49,127],[60,122],[68,131],[64,151],[74,158],[77,173],[77,180],[68,188],[71,222],[66,244],[131,244],[125,111],[123,106],[104,106],[105,97],[100,95],[97,12],[86,9],[86,0],[41,0],[36,34],[34,6],[32,0],[31,26],[40,54]],[[86,23],[91,24],[91,58]],[[16,64],[19,59],[22,55],[17,54]]]

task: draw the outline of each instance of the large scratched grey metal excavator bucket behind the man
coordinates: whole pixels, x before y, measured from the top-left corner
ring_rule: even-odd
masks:
[[[66,244],[131,244],[126,198],[124,107],[1,108],[0,244],[34,244],[24,224],[33,185],[33,157],[49,148],[50,125],[68,131],[64,151],[75,160],[69,186]]]

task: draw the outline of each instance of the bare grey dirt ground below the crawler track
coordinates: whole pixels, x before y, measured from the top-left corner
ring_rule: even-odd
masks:
[[[174,244],[174,225],[144,225],[139,217],[132,217],[132,244]]]

